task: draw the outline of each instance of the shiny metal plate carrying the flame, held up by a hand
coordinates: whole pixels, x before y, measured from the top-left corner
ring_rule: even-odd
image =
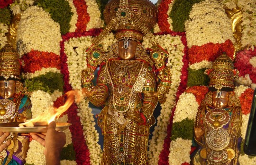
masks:
[[[35,126],[35,127],[19,127],[18,124],[21,123],[0,123],[1,132],[47,132],[48,126]],[[56,122],[56,131],[64,131],[71,124],[70,123],[59,123]]]

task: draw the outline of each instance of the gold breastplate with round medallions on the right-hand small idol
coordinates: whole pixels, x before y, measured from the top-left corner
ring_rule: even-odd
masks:
[[[209,109],[204,118],[205,132],[200,155],[207,160],[207,165],[224,165],[236,156],[238,137],[240,136],[240,123],[237,115],[229,115],[225,109]],[[233,113],[238,113],[235,111]]]

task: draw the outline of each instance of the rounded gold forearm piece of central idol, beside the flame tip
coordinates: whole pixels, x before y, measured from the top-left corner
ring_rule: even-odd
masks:
[[[92,96],[88,97],[91,103],[97,107],[104,105],[109,96],[108,87],[105,84],[98,84],[91,87]]]

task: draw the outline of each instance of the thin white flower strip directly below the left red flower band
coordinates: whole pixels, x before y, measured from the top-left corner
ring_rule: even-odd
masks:
[[[23,79],[32,79],[34,77],[40,76],[40,75],[44,75],[48,72],[53,72],[53,73],[61,73],[59,69],[55,68],[55,67],[48,67],[45,68],[43,67],[41,70],[37,70],[35,73],[22,73],[21,77]]]

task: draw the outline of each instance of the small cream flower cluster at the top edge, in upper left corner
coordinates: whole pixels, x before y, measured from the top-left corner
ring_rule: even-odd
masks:
[[[25,11],[28,7],[34,4],[34,0],[15,0],[14,3],[10,5],[10,9],[13,15],[20,14]]]

